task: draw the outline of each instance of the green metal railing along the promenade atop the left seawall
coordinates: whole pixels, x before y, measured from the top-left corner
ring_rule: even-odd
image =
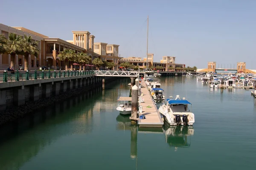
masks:
[[[0,82],[15,82],[35,79],[52,79],[59,77],[73,77],[94,75],[92,71],[3,71],[0,72]]]

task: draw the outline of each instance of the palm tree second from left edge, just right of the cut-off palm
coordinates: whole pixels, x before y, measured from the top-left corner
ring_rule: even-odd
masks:
[[[15,64],[15,55],[22,54],[23,50],[23,40],[20,35],[15,33],[9,33],[9,39],[7,40],[7,49],[6,52],[11,54],[11,67],[14,67]]]

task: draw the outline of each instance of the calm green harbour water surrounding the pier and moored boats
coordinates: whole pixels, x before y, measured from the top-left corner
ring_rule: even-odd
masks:
[[[250,91],[213,90],[195,77],[157,80],[166,96],[192,102],[192,129],[132,127],[116,111],[117,97],[129,96],[128,80],[121,79],[2,128],[0,170],[255,169]]]

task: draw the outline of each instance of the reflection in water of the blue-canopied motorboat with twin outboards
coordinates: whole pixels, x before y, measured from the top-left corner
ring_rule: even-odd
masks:
[[[166,136],[166,143],[170,147],[175,147],[175,151],[177,151],[178,147],[190,147],[188,136],[194,135],[194,128],[192,126],[169,126],[165,123],[163,133]]]

